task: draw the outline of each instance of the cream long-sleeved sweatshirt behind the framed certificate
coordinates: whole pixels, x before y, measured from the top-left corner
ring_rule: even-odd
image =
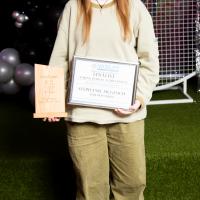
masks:
[[[69,0],[60,19],[49,65],[65,69],[68,85],[74,55],[120,62],[139,62],[136,98],[142,102],[142,107],[129,116],[120,117],[109,109],[66,105],[67,121],[128,123],[146,117],[146,105],[159,80],[158,45],[152,18],[145,5],[141,0],[130,0],[130,3],[130,25],[133,34],[130,41],[123,40],[123,29],[118,21],[113,1],[106,4],[101,11],[97,4],[92,3],[89,40],[83,45],[83,19],[81,18],[77,25],[77,0]]]

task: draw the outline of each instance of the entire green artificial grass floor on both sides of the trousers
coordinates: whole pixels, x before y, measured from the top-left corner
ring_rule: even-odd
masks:
[[[74,200],[64,122],[43,123],[32,112],[24,94],[0,96],[0,200]],[[198,100],[148,106],[145,200],[200,199],[199,134]]]

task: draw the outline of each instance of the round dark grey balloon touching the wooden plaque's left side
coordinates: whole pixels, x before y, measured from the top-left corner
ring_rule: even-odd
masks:
[[[14,78],[17,84],[29,86],[34,82],[34,68],[28,63],[22,63],[16,66]]]

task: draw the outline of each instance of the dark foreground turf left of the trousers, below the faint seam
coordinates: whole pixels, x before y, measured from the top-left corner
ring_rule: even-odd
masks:
[[[0,160],[1,200],[66,200],[74,198],[69,160]]]

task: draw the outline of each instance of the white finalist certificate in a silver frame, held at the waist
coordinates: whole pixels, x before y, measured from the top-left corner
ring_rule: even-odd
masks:
[[[128,109],[135,100],[138,63],[74,57],[68,104]]]

